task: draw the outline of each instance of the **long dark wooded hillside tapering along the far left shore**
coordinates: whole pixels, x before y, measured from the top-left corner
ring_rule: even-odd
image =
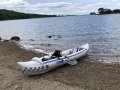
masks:
[[[16,12],[13,10],[0,9],[0,20],[44,18],[44,17],[56,17],[56,15],[29,14]]]

